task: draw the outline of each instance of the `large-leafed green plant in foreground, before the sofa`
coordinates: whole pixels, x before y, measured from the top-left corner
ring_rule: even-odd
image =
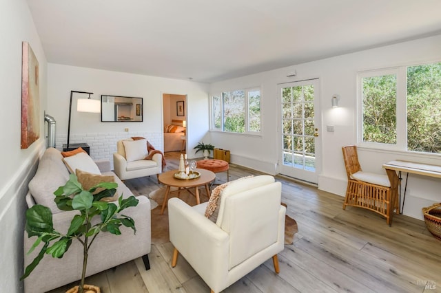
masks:
[[[121,235],[119,229],[121,225],[132,228],[136,233],[134,220],[131,217],[119,215],[119,213],[125,208],[136,206],[139,202],[138,199],[133,195],[123,199],[121,195],[118,206],[112,202],[100,201],[103,197],[112,197],[116,193],[117,186],[118,184],[115,182],[103,182],[93,186],[89,191],[85,191],[78,182],[76,175],[71,174],[65,186],[60,186],[54,192],[54,201],[59,209],[79,211],[72,217],[70,227],[65,234],[54,230],[50,208],[36,204],[26,210],[25,230],[28,232],[28,237],[38,237],[28,253],[37,248],[41,242],[44,243],[44,246],[34,261],[25,268],[21,280],[29,276],[32,270],[37,267],[44,254],[61,258],[68,251],[72,240],[76,239],[83,245],[83,272],[81,274],[81,284],[78,287],[78,292],[82,293],[85,288],[84,279],[88,266],[88,253],[96,235],[101,231]],[[101,188],[101,191],[95,193],[97,188]],[[92,218],[94,219],[95,216],[99,216],[101,221],[92,225]],[[99,287],[96,288],[98,289],[96,292],[99,292]]]

